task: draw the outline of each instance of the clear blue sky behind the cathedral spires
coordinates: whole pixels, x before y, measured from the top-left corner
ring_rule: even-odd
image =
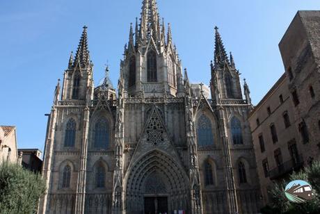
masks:
[[[43,151],[47,117],[57,79],[82,26],[88,26],[90,56],[98,83],[109,62],[116,85],[129,24],[140,17],[142,0],[0,0],[0,124],[17,126],[20,148]],[[209,84],[214,26],[232,51],[253,104],[283,73],[278,43],[297,10],[319,10],[319,0],[158,0],[170,22],[183,67],[193,82]]]

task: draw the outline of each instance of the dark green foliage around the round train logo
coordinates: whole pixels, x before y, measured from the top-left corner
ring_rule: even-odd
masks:
[[[289,181],[303,180],[310,183],[314,192],[314,199],[303,204],[296,204],[290,202],[285,197],[285,186]],[[314,162],[311,167],[305,168],[301,172],[294,172],[289,176],[287,181],[280,181],[275,183],[273,190],[271,190],[272,207],[266,207],[262,213],[320,213],[320,162]]]

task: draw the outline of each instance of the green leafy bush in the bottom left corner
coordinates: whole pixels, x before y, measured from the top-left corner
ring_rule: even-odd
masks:
[[[0,213],[36,213],[38,200],[45,192],[45,182],[12,163],[0,165]]]

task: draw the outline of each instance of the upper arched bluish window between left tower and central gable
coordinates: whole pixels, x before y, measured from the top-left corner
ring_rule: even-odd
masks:
[[[107,149],[109,147],[109,126],[105,119],[100,119],[95,124],[95,148]]]

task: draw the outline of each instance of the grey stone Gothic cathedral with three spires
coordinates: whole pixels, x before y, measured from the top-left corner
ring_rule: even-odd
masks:
[[[250,91],[217,27],[213,49],[209,88],[192,84],[156,0],[143,0],[118,87],[108,68],[94,85],[84,26],[54,93],[38,213],[258,213]]]

